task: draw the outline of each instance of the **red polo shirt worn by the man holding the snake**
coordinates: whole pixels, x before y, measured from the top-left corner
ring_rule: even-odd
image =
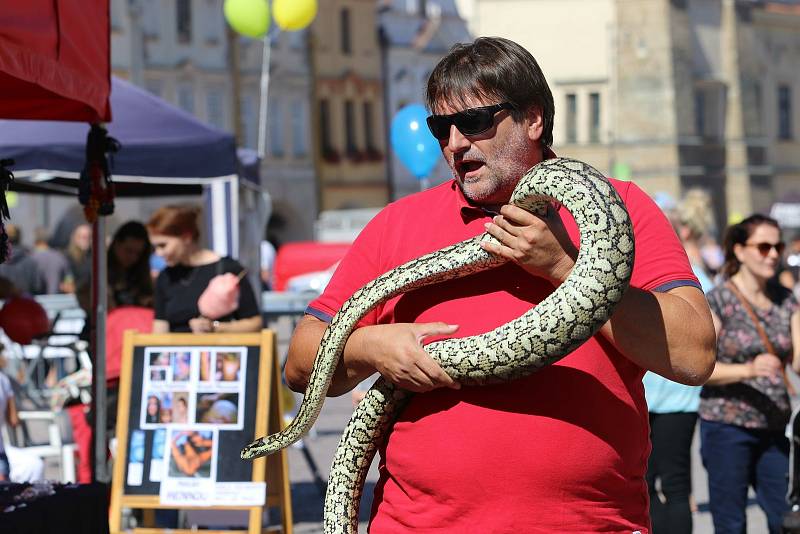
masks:
[[[636,185],[612,183],[634,225],[631,284],[656,291],[699,287],[658,207]],[[577,244],[575,221],[564,209],[561,215]],[[482,233],[490,219],[454,181],[390,204],[308,313],[330,321],[370,280]],[[519,317],[552,289],[508,263],[402,294],[360,325],[444,321],[460,325],[456,337],[470,336]],[[371,531],[648,532],[642,375],[597,335],[528,378],[415,395],[381,448]]]

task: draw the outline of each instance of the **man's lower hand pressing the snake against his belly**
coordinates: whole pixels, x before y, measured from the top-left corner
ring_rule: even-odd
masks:
[[[353,333],[361,360],[378,371],[389,382],[416,393],[440,387],[459,389],[422,348],[432,336],[447,336],[458,325],[446,323],[395,323],[366,326]],[[355,349],[356,347],[354,347]]]

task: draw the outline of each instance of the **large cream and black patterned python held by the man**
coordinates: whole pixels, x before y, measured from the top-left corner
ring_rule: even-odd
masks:
[[[524,315],[486,334],[426,345],[444,371],[463,385],[506,382],[563,358],[608,320],[633,269],[633,228],[608,180],[586,163],[554,158],[532,167],[510,203],[544,215],[552,200],[570,211],[580,232],[567,279]],[[317,351],[295,419],[283,431],[242,449],[243,459],[276,452],[299,440],[322,409],[344,345],[370,309],[400,293],[496,267],[506,260],[484,251],[483,234],[409,261],[356,291],[333,317]],[[324,532],[358,531],[359,501],[375,452],[411,393],[380,378],[345,428],[325,496]]]

